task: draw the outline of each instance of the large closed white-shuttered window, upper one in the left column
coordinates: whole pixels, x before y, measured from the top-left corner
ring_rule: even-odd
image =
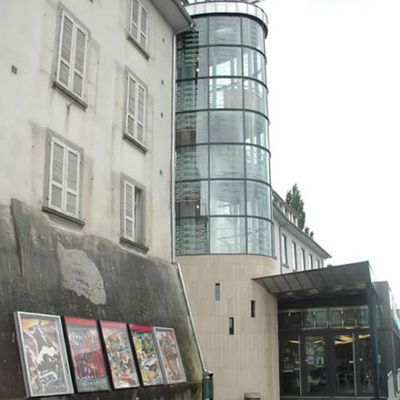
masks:
[[[89,33],[70,14],[61,12],[56,81],[84,98]]]

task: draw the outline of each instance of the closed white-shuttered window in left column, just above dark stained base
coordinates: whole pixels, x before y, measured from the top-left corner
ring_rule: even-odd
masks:
[[[51,138],[48,206],[73,217],[80,216],[81,159],[81,151]]]

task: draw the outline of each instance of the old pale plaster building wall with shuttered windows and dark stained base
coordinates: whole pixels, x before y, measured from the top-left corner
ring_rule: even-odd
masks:
[[[1,2],[0,398],[26,396],[16,311],[174,328],[184,382],[85,398],[201,397],[171,235],[190,25],[174,0]]]

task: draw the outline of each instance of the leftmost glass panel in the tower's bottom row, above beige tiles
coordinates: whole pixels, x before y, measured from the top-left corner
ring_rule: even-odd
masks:
[[[207,217],[176,221],[176,247],[179,254],[207,254],[210,252],[209,242]]]

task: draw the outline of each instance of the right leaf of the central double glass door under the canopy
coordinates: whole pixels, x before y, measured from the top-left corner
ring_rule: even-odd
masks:
[[[334,335],[336,395],[355,395],[354,335]]]

